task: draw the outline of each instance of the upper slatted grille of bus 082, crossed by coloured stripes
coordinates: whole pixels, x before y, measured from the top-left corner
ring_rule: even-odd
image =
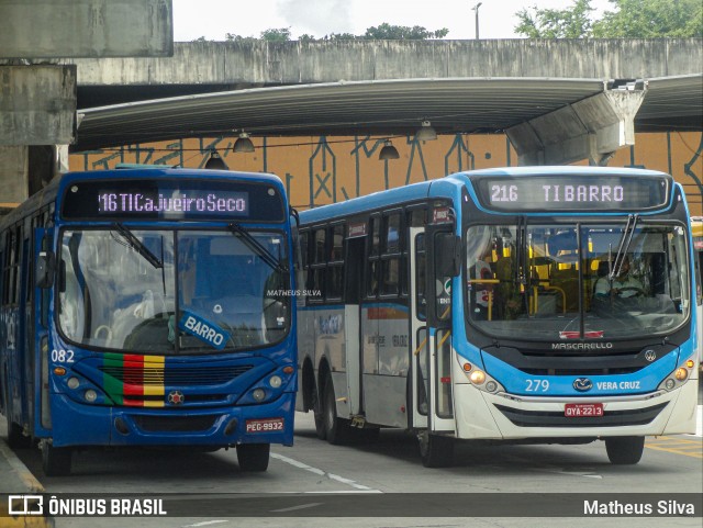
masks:
[[[100,370],[131,385],[221,385],[253,369],[253,364],[228,367],[138,368],[102,366]]]

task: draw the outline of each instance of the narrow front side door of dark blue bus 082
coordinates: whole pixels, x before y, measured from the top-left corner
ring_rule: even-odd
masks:
[[[35,393],[31,400],[34,408],[34,436],[49,436],[52,418],[49,412],[48,386],[48,327],[49,299],[56,273],[56,258],[51,250],[51,234],[43,228],[34,229],[35,277],[29,288],[33,290],[32,311],[33,332],[30,333],[29,348],[33,353],[33,382]]]

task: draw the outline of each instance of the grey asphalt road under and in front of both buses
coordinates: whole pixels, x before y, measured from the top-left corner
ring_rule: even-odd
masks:
[[[566,512],[574,510],[568,503],[574,497],[581,501],[581,495],[585,499],[599,497],[602,504],[611,496],[627,501],[627,495],[613,494],[643,493],[649,494],[647,501],[654,501],[655,505],[660,499],[668,505],[670,494],[694,493],[700,497],[702,441],[700,430],[693,436],[649,438],[643,460],[633,467],[610,464],[600,441],[585,446],[462,442],[455,450],[453,468],[426,469],[420,461],[416,439],[404,431],[383,430],[373,445],[331,446],[315,437],[312,415],[298,414],[294,447],[272,447],[266,473],[241,472],[234,450],[192,453],[101,449],[77,453],[71,475],[45,478],[38,450],[18,454],[47,493],[145,497],[180,494],[178,503],[169,504],[185,515],[129,519],[57,517],[55,525],[59,528],[556,527],[563,526],[566,519],[549,517],[549,513],[559,512],[561,506]],[[436,495],[425,495],[429,493]],[[498,512],[504,514],[472,515],[496,504]],[[549,506],[547,515],[540,514],[540,504]],[[254,516],[241,517],[249,515],[248,512]],[[308,512],[310,517],[301,517]],[[330,512],[344,517],[315,517],[331,515]],[[572,517],[568,519],[569,526],[633,526],[634,520],[628,516],[578,515],[569,515]],[[700,527],[701,519],[639,517],[636,524]]]

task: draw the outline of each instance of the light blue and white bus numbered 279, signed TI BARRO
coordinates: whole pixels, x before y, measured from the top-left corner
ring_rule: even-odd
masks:
[[[671,176],[461,172],[301,212],[298,409],[332,443],[585,443],[695,431],[695,276]]]

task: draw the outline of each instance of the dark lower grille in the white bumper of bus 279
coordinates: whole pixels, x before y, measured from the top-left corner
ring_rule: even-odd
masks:
[[[606,411],[603,416],[588,418],[567,417],[563,411],[523,411],[503,405],[495,405],[495,408],[518,427],[618,427],[649,424],[667,405],[662,403],[645,408]]]

